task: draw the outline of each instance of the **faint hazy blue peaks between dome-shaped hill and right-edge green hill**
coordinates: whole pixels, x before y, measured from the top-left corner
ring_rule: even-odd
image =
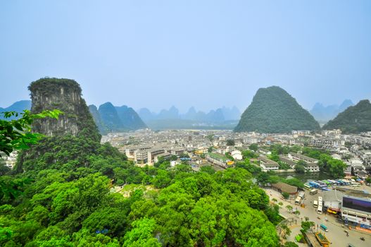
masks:
[[[327,121],[334,119],[337,114],[343,112],[345,109],[351,106],[353,106],[353,102],[351,100],[344,100],[344,102],[342,102],[340,105],[332,104],[326,107],[317,102],[310,110],[310,114],[312,114],[320,123],[326,123]]]

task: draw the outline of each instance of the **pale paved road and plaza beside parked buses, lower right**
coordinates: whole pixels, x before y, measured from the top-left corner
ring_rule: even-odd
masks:
[[[285,217],[294,217],[298,219],[298,224],[290,227],[292,233],[290,236],[287,237],[288,241],[294,241],[294,237],[300,233],[301,220],[305,220],[305,217],[309,217],[309,220],[315,222],[316,224],[315,230],[317,230],[317,225],[320,226],[320,224],[325,224],[325,226],[329,230],[328,232],[325,232],[325,235],[327,236],[327,239],[332,242],[331,246],[345,247],[348,246],[348,243],[352,243],[356,247],[371,246],[371,236],[369,234],[364,234],[362,232],[354,230],[348,230],[349,236],[347,237],[342,224],[336,222],[336,218],[333,215],[317,214],[316,209],[315,207],[313,207],[312,203],[313,200],[317,200],[318,196],[322,196],[322,191],[319,191],[317,195],[309,195],[309,191],[306,191],[305,199],[303,200],[303,203],[306,205],[305,208],[295,205],[294,200],[282,200],[282,195],[277,191],[271,189],[265,189],[265,191],[270,196],[271,200],[272,198],[276,198],[278,202],[284,203],[284,205],[279,210],[282,215],[284,215]],[[296,217],[296,215],[288,212],[286,209],[287,205],[291,205],[294,210],[297,209],[300,212],[300,215]],[[320,219],[317,219],[317,217],[320,217]],[[328,222],[325,221],[325,217],[327,217]],[[318,228],[318,230],[322,231],[320,228]],[[365,241],[360,240],[360,237],[362,236],[365,238]],[[306,245],[300,244],[299,246]]]

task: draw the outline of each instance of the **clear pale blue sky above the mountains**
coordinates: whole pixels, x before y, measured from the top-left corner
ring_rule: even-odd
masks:
[[[88,104],[249,106],[278,85],[311,109],[371,98],[371,1],[0,1],[0,107],[45,76]]]

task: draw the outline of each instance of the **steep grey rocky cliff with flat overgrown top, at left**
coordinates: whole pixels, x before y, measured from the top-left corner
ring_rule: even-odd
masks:
[[[31,91],[32,113],[60,109],[64,112],[59,119],[34,121],[33,130],[44,135],[89,135],[99,139],[99,133],[81,97],[81,88],[75,80],[42,78],[28,87]]]

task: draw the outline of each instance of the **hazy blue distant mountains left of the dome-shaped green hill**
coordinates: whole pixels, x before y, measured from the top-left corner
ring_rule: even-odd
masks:
[[[15,102],[10,107],[1,108],[0,112],[23,112],[24,109],[31,109],[31,100]],[[237,107],[222,107],[205,113],[196,111],[190,107],[188,112],[180,114],[179,110],[172,106],[170,109],[163,109],[158,114],[149,109],[139,109],[138,113],[131,107],[115,107],[111,102],[96,107],[89,105],[89,112],[98,126],[101,134],[120,131],[131,131],[140,128],[166,129],[166,128],[228,128],[232,129],[237,125],[241,116]],[[0,119],[1,115],[0,115]],[[14,119],[14,118],[13,118]]]

